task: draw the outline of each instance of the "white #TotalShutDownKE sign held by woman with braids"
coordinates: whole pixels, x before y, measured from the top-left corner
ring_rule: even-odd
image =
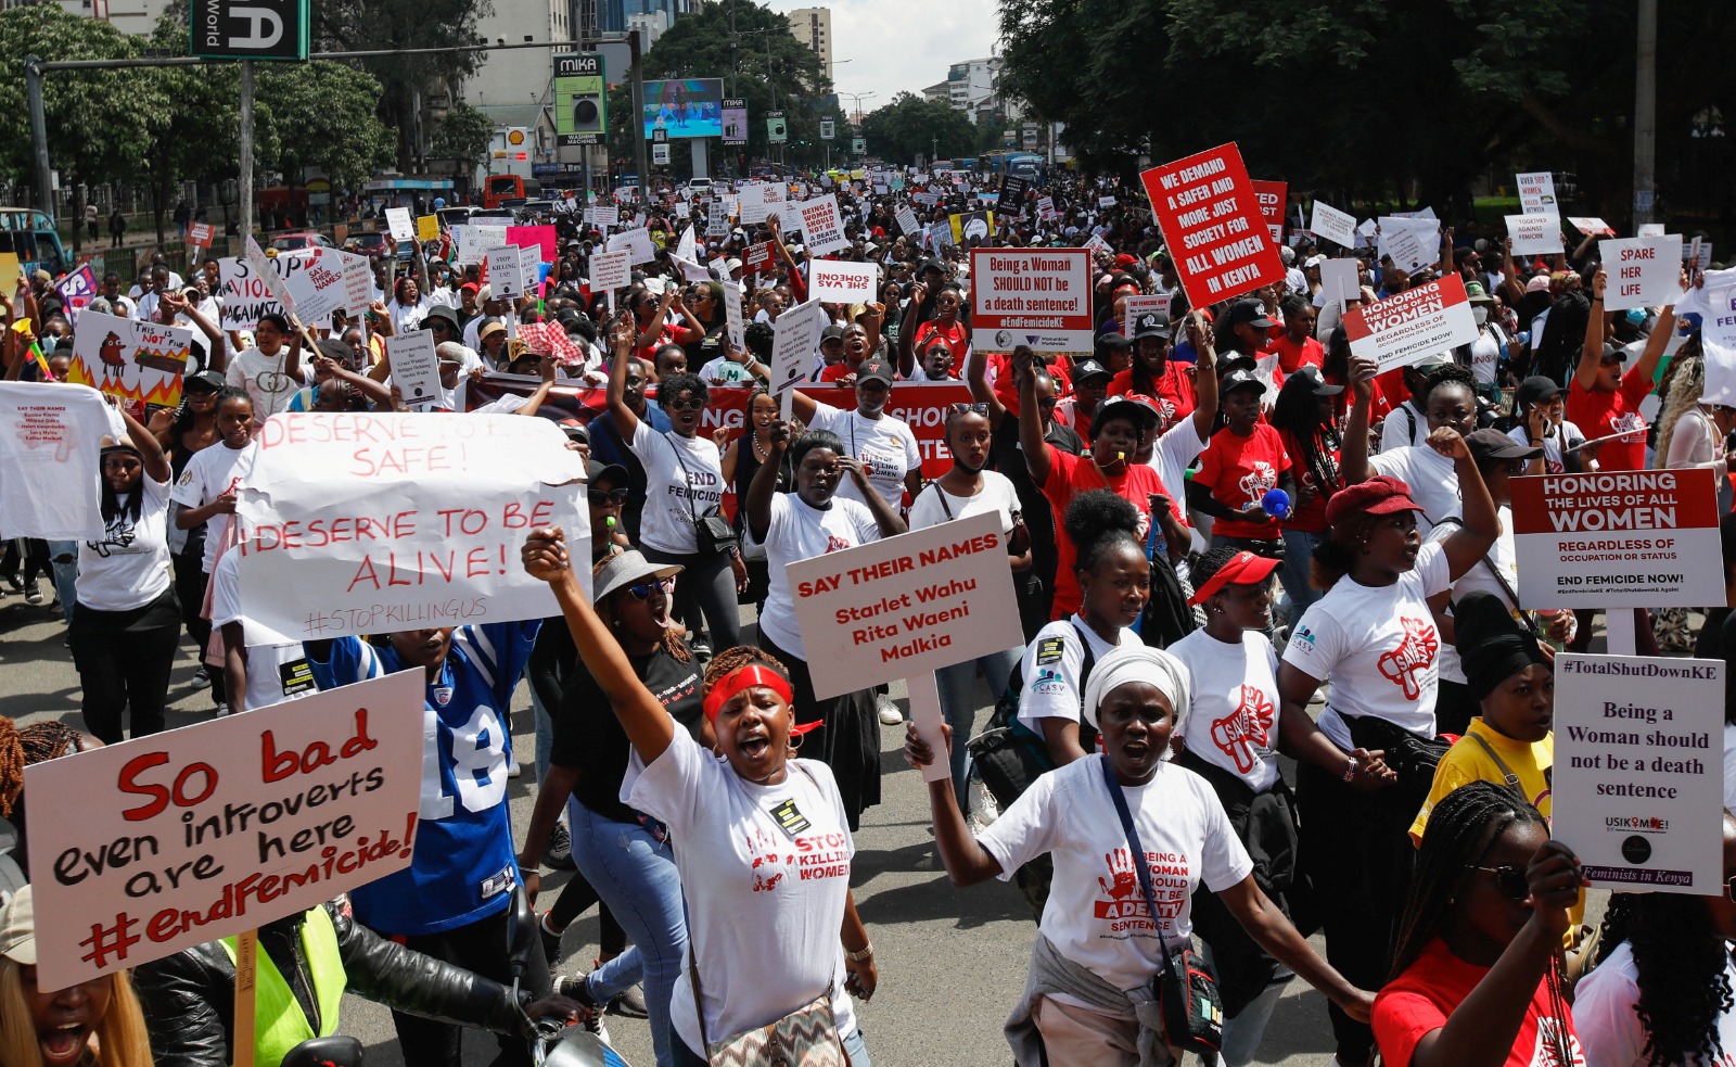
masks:
[[[1724,893],[1717,659],[1555,657],[1550,838],[1614,891]]]

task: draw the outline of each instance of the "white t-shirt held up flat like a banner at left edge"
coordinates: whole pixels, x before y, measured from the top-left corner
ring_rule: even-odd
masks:
[[[102,396],[64,382],[0,382],[0,534],[104,540]]]

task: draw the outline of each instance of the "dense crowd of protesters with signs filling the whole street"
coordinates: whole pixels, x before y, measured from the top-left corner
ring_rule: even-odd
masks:
[[[0,1067],[1736,1064],[1736,268],[1236,136],[0,255]]]

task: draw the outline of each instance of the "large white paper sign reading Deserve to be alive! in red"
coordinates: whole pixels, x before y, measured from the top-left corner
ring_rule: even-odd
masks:
[[[538,527],[590,549],[585,467],[549,419],[283,414],[241,487],[241,593],[293,640],[545,619],[524,573]]]

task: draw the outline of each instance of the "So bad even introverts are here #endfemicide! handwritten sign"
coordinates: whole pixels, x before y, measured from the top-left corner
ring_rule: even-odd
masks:
[[[420,671],[401,671],[26,768],[43,989],[408,867],[422,690]]]

